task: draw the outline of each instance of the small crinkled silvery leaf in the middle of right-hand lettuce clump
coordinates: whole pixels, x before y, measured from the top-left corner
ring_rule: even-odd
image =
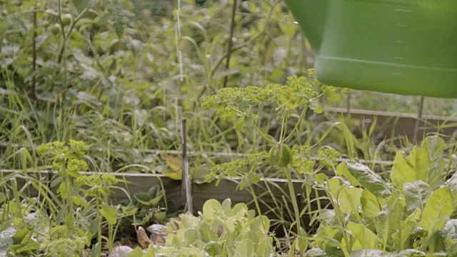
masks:
[[[403,194],[405,196],[406,209],[414,211],[417,208],[423,209],[428,197],[431,195],[430,186],[423,181],[414,181],[413,183],[403,184]]]

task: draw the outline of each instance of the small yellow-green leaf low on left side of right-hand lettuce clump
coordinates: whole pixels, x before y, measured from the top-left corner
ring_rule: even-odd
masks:
[[[346,229],[351,231],[352,233],[352,246],[351,249],[353,251],[359,249],[376,249],[379,248],[378,241],[376,234],[373,233],[370,229],[366,228],[362,224],[353,223],[351,221],[348,222],[346,225]],[[342,247],[346,246],[346,241],[341,241]]]

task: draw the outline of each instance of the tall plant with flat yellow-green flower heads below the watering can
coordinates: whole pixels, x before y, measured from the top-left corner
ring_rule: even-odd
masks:
[[[271,166],[277,169],[281,177],[284,176],[287,179],[288,196],[293,206],[293,218],[295,221],[293,226],[296,226],[297,239],[291,246],[291,251],[296,249],[301,252],[306,251],[308,247],[306,231],[301,226],[301,217],[305,211],[300,210],[298,207],[296,192],[293,188],[292,173],[298,175],[306,173],[312,176],[314,173],[314,162],[310,161],[311,158],[307,158],[312,148],[308,143],[293,151],[288,146],[288,142],[291,141],[293,136],[301,134],[301,129],[303,129],[303,123],[306,123],[306,114],[309,109],[318,114],[322,111],[317,101],[319,94],[314,90],[316,87],[321,86],[321,84],[313,77],[313,71],[310,71],[308,75],[309,78],[291,76],[288,78],[288,85],[286,86],[276,84],[268,85],[265,88],[248,86],[242,89],[221,89],[214,96],[207,97],[203,103],[204,108],[217,109],[217,114],[221,119],[233,121],[233,128],[238,134],[241,134],[243,131],[251,131],[251,133],[252,131],[256,131],[262,140],[271,144],[268,155],[266,152],[260,152],[248,158],[214,167],[209,180],[218,174],[224,176],[241,176],[240,188],[243,189],[245,186],[250,188],[256,202],[257,211],[261,213],[252,188],[253,183],[258,183],[261,178],[261,176],[256,174],[256,168]],[[273,118],[276,119],[280,126],[280,129],[278,129],[279,132],[276,134],[278,138],[268,134],[268,131],[262,131],[262,127],[258,126],[258,124],[261,124],[261,122],[258,122],[258,119],[261,118],[256,114],[256,110],[260,106],[268,106],[268,108],[275,111],[274,114],[276,116]],[[288,124],[291,120],[295,122],[295,125],[289,128]],[[296,158],[298,158],[298,161],[294,161]],[[306,189],[308,203],[311,203],[310,191],[311,186],[308,185]],[[309,204],[306,208],[308,209],[308,213],[311,213]],[[291,229],[287,231],[288,233],[286,234],[289,234]]]

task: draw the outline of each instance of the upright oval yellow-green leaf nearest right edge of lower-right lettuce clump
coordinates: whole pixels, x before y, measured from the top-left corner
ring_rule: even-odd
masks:
[[[453,212],[453,198],[451,189],[447,186],[438,188],[428,198],[423,208],[421,226],[428,231],[430,237],[434,231],[444,227]]]

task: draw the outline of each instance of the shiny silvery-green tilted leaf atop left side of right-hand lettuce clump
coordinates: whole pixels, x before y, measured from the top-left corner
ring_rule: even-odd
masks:
[[[361,163],[347,163],[348,171],[358,183],[367,188],[375,196],[384,198],[391,195],[391,186],[383,178]]]

